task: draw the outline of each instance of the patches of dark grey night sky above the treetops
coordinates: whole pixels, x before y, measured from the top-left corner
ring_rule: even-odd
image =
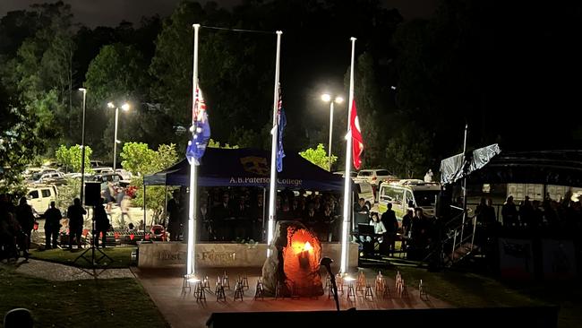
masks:
[[[54,3],[56,1],[39,0],[2,0],[0,1],[0,17],[13,10],[27,9],[30,4]],[[174,10],[180,0],[75,0],[64,1],[73,7],[74,19],[89,27],[116,26],[125,20],[139,22],[142,16],[159,14],[167,16]],[[240,0],[218,0],[223,7],[230,8],[240,4]],[[205,1],[201,1],[205,3]],[[398,8],[405,17],[428,17],[432,14],[437,0],[384,0],[381,1],[387,8]]]

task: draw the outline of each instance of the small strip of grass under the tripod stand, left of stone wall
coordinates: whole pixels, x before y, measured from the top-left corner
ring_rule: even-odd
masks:
[[[135,250],[135,247],[117,246],[106,248],[105,254],[111,257],[113,259],[113,262],[110,262],[109,260],[107,260],[107,258],[104,258],[100,262],[100,264],[107,263],[108,268],[128,268],[131,265],[132,260],[131,255],[133,250]],[[79,255],[81,255],[81,253],[82,250],[77,251],[76,249],[74,250],[74,252],[64,249],[48,249],[46,251],[32,250],[30,252],[30,258],[54,263],[62,263],[66,265],[73,265],[81,268],[91,268],[92,267],[91,263],[84,260],[83,258],[80,258],[79,260],[77,260],[76,263],[73,263],[73,261],[77,257],[79,257]],[[97,258],[98,256],[101,256],[101,254],[96,251],[95,257]],[[91,251],[87,252],[85,254],[85,257],[90,259]]]

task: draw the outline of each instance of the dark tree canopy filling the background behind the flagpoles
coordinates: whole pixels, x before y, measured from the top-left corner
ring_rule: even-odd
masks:
[[[217,141],[270,148],[274,31],[282,30],[286,151],[327,143],[329,111],[319,96],[347,99],[352,36],[364,168],[405,176],[436,170],[441,158],[460,151],[465,124],[469,147],[579,148],[582,142],[579,120],[564,119],[576,117],[571,104],[579,88],[571,81],[582,71],[582,53],[571,40],[579,39],[582,4],[560,10],[532,4],[523,14],[518,4],[501,10],[441,0],[431,17],[410,19],[375,0],[244,1],[229,9],[184,0],[167,17],[95,28],[74,23],[71,5],[34,4],[0,18],[4,168],[19,170],[35,156],[54,156],[57,145],[81,142],[79,87],[88,90],[86,144],[93,157],[111,158],[115,113],[107,101],[132,104],[119,117],[118,139],[151,149],[174,143],[184,156],[193,22],[202,25],[199,82]],[[334,113],[332,149],[340,161],[347,105]],[[538,132],[524,134],[523,126]]]

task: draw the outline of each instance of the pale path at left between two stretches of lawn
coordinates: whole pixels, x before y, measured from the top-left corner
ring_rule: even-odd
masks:
[[[16,272],[48,281],[80,281],[94,279],[88,272],[73,266],[30,259],[19,259],[16,263],[0,263],[0,267],[15,267]],[[97,270],[97,273],[100,270]],[[135,278],[129,269],[107,269],[98,275],[98,279]]]

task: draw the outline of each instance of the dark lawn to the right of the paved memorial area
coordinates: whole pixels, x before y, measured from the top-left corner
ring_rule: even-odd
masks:
[[[558,305],[558,326],[579,327],[582,323],[582,286],[579,283],[502,283],[470,272],[428,272],[416,266],[398,265],[388,269],[393,277],[402,273],[407,285],[424,289],[435,298],[458,307]]]

